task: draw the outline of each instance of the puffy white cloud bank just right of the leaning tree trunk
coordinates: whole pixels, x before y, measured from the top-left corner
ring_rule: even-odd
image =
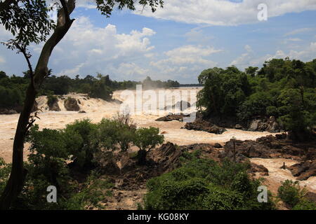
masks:
[[[119,34],[115,25],[94,27],[89,18],[81,17],[53,51],[51,64],[58,66],[60,75],[74,77],[98,71],[110,73],[114,79],[131,76],[137,80],[147,71],[138,64],[152,53],[149,37],[154,34],[147,27]]]

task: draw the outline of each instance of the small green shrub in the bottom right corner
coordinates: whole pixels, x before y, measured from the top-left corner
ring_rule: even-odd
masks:
[[[315,202],[305,198],[307,190],[299,186],[298,181],[286,180],[277,190],[277,196],[294,210],[316,210]]]

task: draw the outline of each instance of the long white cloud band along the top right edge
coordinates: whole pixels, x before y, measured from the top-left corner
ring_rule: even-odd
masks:
[[[172,0],[165,1],[164,8],[152,13],[149,9],[134,13],[165,20],[174,20],[189,24],[207,25],[241,25],[259,22],[258,4],[262,0],[244,0],[232,2],[228,0]],[[269,18],[285,13],[299,13],[304,10],[315,10],[313,0],[265,0]]]

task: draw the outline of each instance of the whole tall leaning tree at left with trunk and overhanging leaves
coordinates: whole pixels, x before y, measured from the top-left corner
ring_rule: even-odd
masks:
[[[137,3],[143,7],[149,6],[152,12],[154,12],[159,6],[163,6],[164,1],[96,0],[96,8],[100,10],[101,14],[110,17],[115,7],[119,10],[123,8],[136,10]],[[25,96],[24,107],[22,113],[20,113],[15,132],[11,175],[0,197],[0,209],[9,209],[24,186],[27,170],[23,167],[23,148],[25,135],[29,127],[34,123],[34,117],[31,116],[32,107],[44,78],[48,76],[48,61],[51,53],[55,45],[67,34],[67,31],[74,22],[74,19],[70,18],[74,8],[75,0],[60,0],[60,4],[58,4],[57,25],[53,26],[51,20],[46,19],[49,9],[44,0],[6,0],[0,4],[1,24],[15,36],[15,39],[8,41],[8,48],[17,49],[18,52],[22,52],[27,60],[31,77],[31,82]],[[51,29],[53,29],[53,34],[46,41],[46,36],[48,36]],[[45,41],[45,44],[41,50],[37,66],[33,71],[26,47],[29,43],[39,43],[41,41]]]

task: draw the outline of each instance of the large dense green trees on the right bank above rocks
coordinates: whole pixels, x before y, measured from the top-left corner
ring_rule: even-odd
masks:
[[[205,116],[234,117],[247,122],[275,116],[292,139],[309,137],[316,124],[316,59],[311,62],[272,59],[245,72],[235,66],[206,69],[197,106]]]

